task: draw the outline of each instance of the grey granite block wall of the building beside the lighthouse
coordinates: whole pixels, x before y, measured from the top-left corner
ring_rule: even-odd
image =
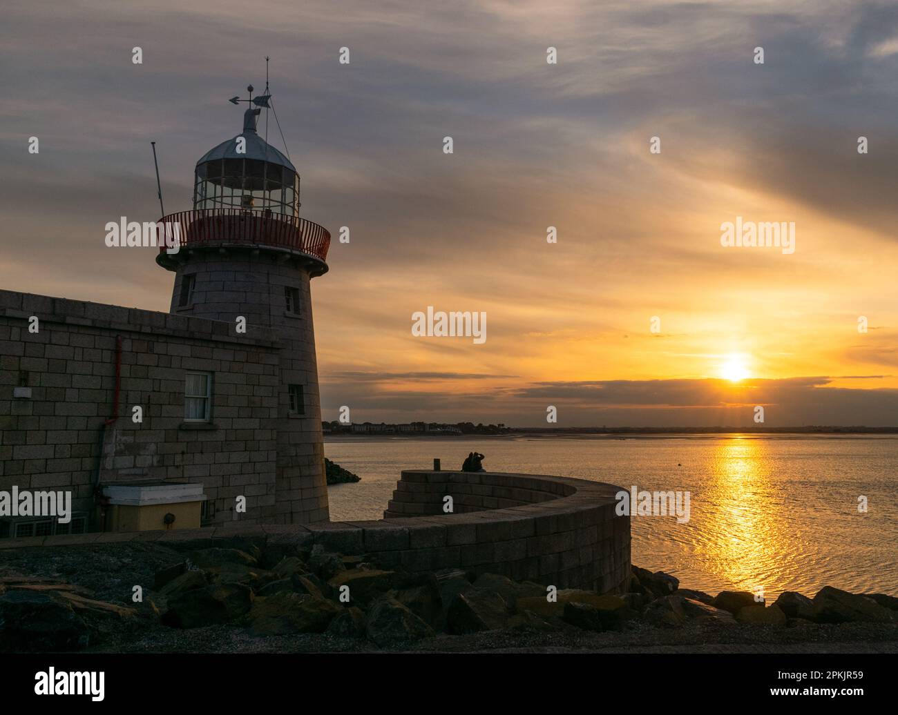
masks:
[[[119,419],[104,431],[119,337]],[[71,490],[89,511],[98,478],[198,482],[211,523],[234,518],[238,495],[244,521],[273,520],[279,353],[269,329],[0,291],[0,489]],[[209,423],[185,423],[188,371],[212,374]]]

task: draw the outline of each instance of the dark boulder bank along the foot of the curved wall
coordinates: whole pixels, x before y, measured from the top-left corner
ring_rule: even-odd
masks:
[[[68,572],[73,580],[91,581],[92,589],[48,573],[0,580],[0,650],[116,650],[117,644],[127,650],[132,642],[142,650],[168,650],[175,633],[194,633],[191,638],[200,639],[191,643],[200,643],[202,633],[222,629],[254,650],[268,650],[267,643],[279,650],[296,638],[306,641],[306,650],[483,650],[497,641],[530,645],[534,638],[588,648],[583,639],[591,634],[601,634],[607,647],[609,639],[624,643],[633,634],[645,641],[646,634],[651,640],[657,638],[652,633],[694,629],[705,629],[702,642],[705,632],[718,642],[732,641],[733,633],[743,643],[777,642],[779,632],[833,623],[876,624],[898,640],[898,598],[831,587],[813,598],[783,593],[767,605],[742,591],[710,596],[681,589],[673,576],[638,567],[627,592],[617,596],[461,569],[377,568],[363,556],[320,544],[250,538],[94,546],[82,555],[79,548],[66,547]],[[25,557],[17,566],[52,571],[51,562]],[[118,570],[115,576],[110,568]],[[138,603],[100,600],[141,580],[146,587]],[[480,640],[471,641],[475,637]]]

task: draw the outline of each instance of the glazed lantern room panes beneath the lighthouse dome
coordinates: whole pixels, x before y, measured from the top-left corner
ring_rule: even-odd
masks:
[[[259,159],[216,159],[199,164],[195,209],[269,211],[298,216],[299,177],[294,171]]]

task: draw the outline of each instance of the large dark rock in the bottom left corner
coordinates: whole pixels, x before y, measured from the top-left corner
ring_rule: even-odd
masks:
[[[7,589],[0,596],[0,652],[82,650],[89,642],[84,619],[54,594]]]

